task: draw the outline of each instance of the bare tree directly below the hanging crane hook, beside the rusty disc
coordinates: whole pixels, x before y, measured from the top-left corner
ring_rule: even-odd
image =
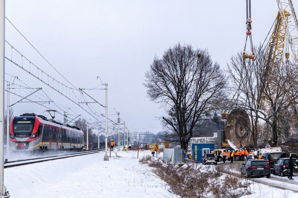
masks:
[[[263,65],[265,60],[265,50],[258,47],[256,59],[254,62],[243,60],[242,52],[231,57],[231,62],[227,65],[227,72],[230,77],[233,93],[231,103],[228,104],[228,109],[246,110],[250,116],[251,133],[253,135],[253,144],[257,148],[258,119],[265,117],[262,111],[263,99]]]

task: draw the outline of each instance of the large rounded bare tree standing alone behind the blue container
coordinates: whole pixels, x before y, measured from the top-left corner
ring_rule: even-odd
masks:
[[[145,77],[148,97],[168,113],[162,119],[172,129],[170,135],[187,149],[195,124],[218,108],[224,96],[226,77],[219,64],[206,50],[178,43],[154,58]]]

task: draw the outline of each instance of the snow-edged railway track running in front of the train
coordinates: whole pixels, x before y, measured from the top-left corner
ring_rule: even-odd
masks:
[[[88,155],[88,154],[98,153],[98,152],[101,152],[104,150],[105,149],[93,149],[93,150],[88,150],[88,151],[71,153],[71,154],[67,154],[67,155],[38,157],[38,158],[14,160],[14,161],[8,161],[6,159],[4,161],[4,168],[10,168],[10,167],[14,167],[14,166],[23,166],[23,165],[27,165],[27,164],[34,164],[34,163],[39,163],[39,162],[44,162],[44,161],[58,160],[58,159],[63,159],[63,158],[68,158],[68,157]]]

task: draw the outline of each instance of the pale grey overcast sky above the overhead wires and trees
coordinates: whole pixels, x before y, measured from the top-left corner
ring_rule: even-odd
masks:
[[[264,41],[277,11],[276,1],[252,0],[254,44]],[[101,84],[96,79],[100,76],[103,83],[108,83],[109,114],[115,114],[115,108],[128,129],[139,132],[162,130],[158,117],[164,116],[164,110],[149,101],[142,85],[155,55],[161,57],[178,42],[188,43],[194,48],[207,48],[224,68],[231,55],[243,50],[246,37],[245,0],[9,0],[6,17],[75,87],[96,87]],[[8,21],[5,37],[23,56],[69,85]],[[11,57],[11,52],[6,45],[6,56]],[[13,59],[22,61],[14,53]],[[8,74],[18,76],[30,87],[42,87],[64,111],[70,107],[68,113],[92,118],[19,67],[7,60],[5,63]],[[104,105],[104,90],[89,93]],[[11,96],[10,104],[19,99]],[[103,107],[92,105],[104,114]],[[17,103],[13,109],[15,116],[34,112],[49,117],[44,113],[47,108],[34,103]],[[116,121],[117,116],[109,118]],[[62,121],[62,116],[56,115],[56,119]]]

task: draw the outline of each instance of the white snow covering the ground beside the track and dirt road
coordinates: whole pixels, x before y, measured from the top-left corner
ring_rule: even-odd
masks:
[[[168,191],[169,186],[152,173],[151,167],[139,163],[139,159],[151,155],[151,151],[139,152],[139,159],[136,151],[117,151],[117,154],[122,157],[118,158],[114,154],[109,161],[103,160],[104,152],[101,152],[6,168],[4,185],[13,198],[179,197]],[[272,182],[286,185],[283,181]],[[253,182],[249,188],[253,194],[243,198],[298,197],[298,193],[293,191],[257,182]]]

